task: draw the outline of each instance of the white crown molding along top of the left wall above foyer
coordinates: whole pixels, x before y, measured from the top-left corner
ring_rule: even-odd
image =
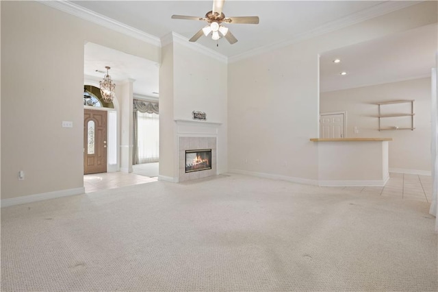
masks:
[[[142,40],[156,47],[161,47],[161,41],[156,36],[146,34],[146,32],[142,32],[140,29],[136,29],[134,27],[130,27],[129,25],[125,25],[124,23],[114,21],[114,19],[110,19],[107,16],[103,16],[102,14],[96,13],[92,10],[83,8],[79,5],[76,5],[75,3],[71,3],[70,1],[37,1],[44,5],[50,6],[51,8],[55,8],[62,12],[77,16],[80,19],[96,23],[97,25],[101,25],[103,27],[107,27],[114,30],[115,32],[120,32],[121,34],[137,38],[138,40]]]

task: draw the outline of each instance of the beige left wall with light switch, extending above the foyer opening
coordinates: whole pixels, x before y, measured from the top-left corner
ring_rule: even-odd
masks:
[[[36,1],[0,5],[1,198],[80,190],[83,44],[154,62],[160,62],[160,48]],[[73,128],[62,128],[62,121],[73,121]]]

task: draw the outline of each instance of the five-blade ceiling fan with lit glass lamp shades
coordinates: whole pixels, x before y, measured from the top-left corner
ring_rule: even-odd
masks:
[[[185,15],[172,15],[172,19],[187,19],[190,21],[207,21],[208,25],[200,29],[192,38],[190,42],[196,42],[198,38],[205,35],[211,34],[213,40],[219,40],[222,36],[228,40],[228,42],[233,45],[237,42],[237,38],[231,34],[228,27],[224,27],[222,23],[250,23],[258,24],[259,16],[235,16],[235,17],[225,17],[222,13],[222,8],[224,7],[225,0],[214,0],[213,10],[207,12],[205,17],[197,16],[185,16]]]

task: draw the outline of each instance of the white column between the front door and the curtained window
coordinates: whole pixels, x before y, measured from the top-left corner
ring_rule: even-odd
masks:
[[[120,86],[120,171],[132,172],[133,149],[133,90],[136,80],[129,79]]]

